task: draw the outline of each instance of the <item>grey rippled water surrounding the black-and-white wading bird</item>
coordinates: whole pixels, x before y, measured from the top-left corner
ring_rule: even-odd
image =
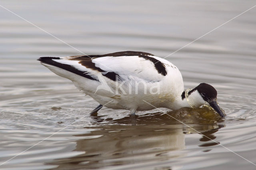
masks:
[[[135,50],[165,57],[255,2],[4,0],[0,5],[86,54]],[[253,8],[166,58],[182,72],[185,88],[212,84],[226,118],[182,108],[167,112],[170,116],[138,112],[134,121],[128,111],[108,108],[99,117],[85,116],[97,103],[36,61],[81,53],[0,7],[0,162],[5,162],[0,169],[255,169],[255,15]]]

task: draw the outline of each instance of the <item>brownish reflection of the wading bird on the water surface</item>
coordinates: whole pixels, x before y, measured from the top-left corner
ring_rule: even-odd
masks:
[[[189,127],[172,117],[188,124]],[[84,154],[47,163],[58,165],[53,170],[117,165],[127,167],[136,164],[140,166],[152,164],[151,166],[154,167],[154,163],[186,156],[187,152],[184,150],[187,134],[202,134],[198,146],[217,144],[212,141],[216,139],[214,133],[224,126],[224,122],[220,122],[221,119],[217,114],[202,108],[196,110],[181,108],[167,114],[160,112],[145,114],[136,116],[134,120],[124,117],[106,121],[104,116],[94,119],[98,121],[95,127],[85,127],[91,130],[90,133],[75,135],[83,139],[76,141],[74,151],[83,151]],[[136,125],[132,125],[134,123]],[[204,143],[201,144],[202,142]],[[208,151],[210,151],[208,148],[203,150],[203,152]],[[161,168],[159,164],[155,167]]]

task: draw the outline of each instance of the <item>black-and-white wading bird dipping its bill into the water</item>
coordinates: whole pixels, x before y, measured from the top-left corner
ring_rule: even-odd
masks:
[[[40,57],[37,60],[58,76],[71,80],[99,105],[112,109],[136,111],[211,106],[221,117],[217,91],[200,83],[184,91],[179,69],[164,58],[147,52],[123,51],[102,55]]]

